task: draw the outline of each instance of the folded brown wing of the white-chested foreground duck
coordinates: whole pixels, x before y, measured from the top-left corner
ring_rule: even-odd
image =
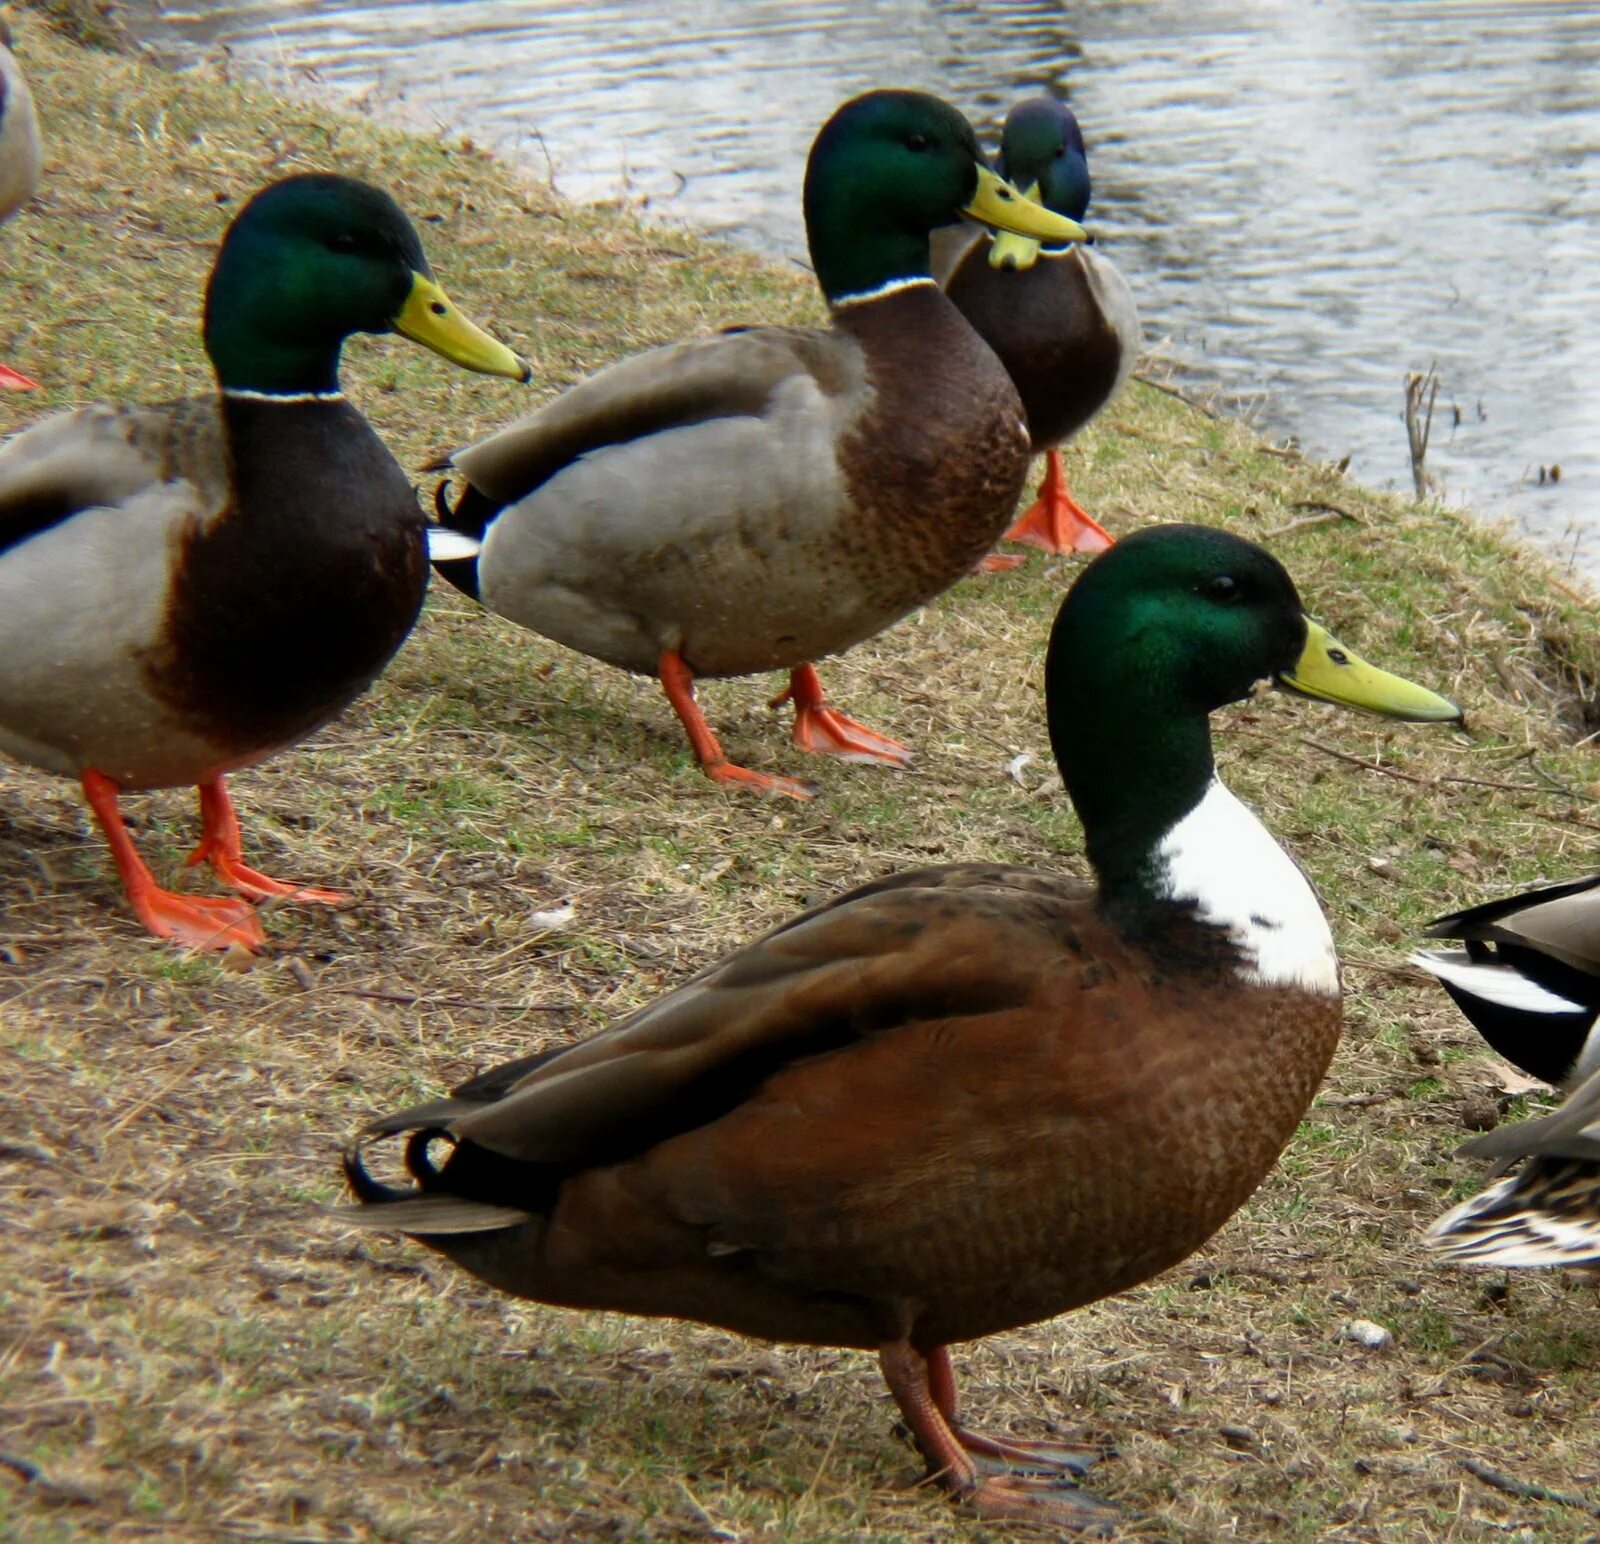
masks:
[[[552,1179],[619,1162],[717,1122],[786,1069],[898,1029],[1024,1006],[1042,970],[1075,958],[1062,918],[1091,894],[998,864],[891,875],[802,914],[610,1030],[496,1067],[448,1099],[373,1122],[360,1139],[432,1130]],[[376,1208],[360,1221],[398,1219]]]

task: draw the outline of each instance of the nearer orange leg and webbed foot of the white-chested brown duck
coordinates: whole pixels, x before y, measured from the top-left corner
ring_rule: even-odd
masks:
[[[909,1341],[891,1341],[878,1347],[883,1381],[910,1427],[912,1440],[928,1461],[933,1480],[979,1517],[1032,1522],[1086,1534],[1110,1533],[1118,1517],[1117,1509],[1080,1490],[1066,1464],[1046,1464],[1035,1458],[1032,1469],[1053,1472],[984,1474],[963,1434],[939,1408],[941,1382],[954,1397],[949,1362],[944,1363],[939,1378],[933,1376],[942,1355],[941,1349],[925,1358]],[[1008,1445],[997,1443],[997,1446]]]

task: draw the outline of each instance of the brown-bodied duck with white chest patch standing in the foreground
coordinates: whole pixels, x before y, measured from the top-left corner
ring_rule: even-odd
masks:
[[[1272,680],[1458,718],[1306,618],[1261,547],[1152,526],[1069,592],[1050,734],[1098,888],[914,869],[739,949],[616,1027],[368,1125],[358,1205],[504,1291],[875,1350],[939,1483],[990,1517],[1107,1507],[994,1459],[946,1347],[1144,1282],[1290,1139],[1339,1037],[1328,923],[1218,781],[1210,714]],[[366,1166],[406,1133],[411,1182]]]

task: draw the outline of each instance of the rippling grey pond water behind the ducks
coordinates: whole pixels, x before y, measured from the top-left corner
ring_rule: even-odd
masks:
[[[1600,574],[1600,8],[162,0],[147,22],[795,258],[806,149],[843,98],[922,86],[992,134],[1054,90],[1090,222],[1187,389],[1410,486],[1403,376],[1435,365],[1445,496]]]

